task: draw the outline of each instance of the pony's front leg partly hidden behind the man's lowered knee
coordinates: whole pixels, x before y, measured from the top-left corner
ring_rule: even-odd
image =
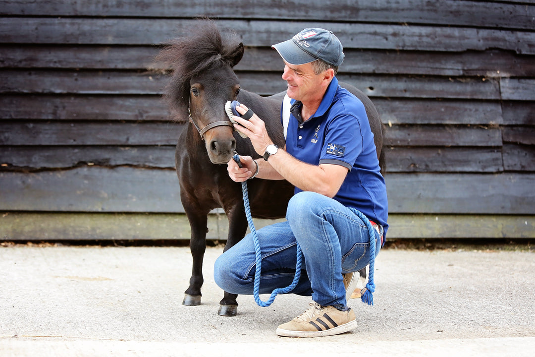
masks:
[[[241,208],[243,210],[243,207]],[[235,245],[245,236],[247,232],[247,219],[241,213],[235,212],[228,213],[228,237],[225,244],[225,249],[223,253],[226,252],[230,247]],[[238,309],[238,302],[236,298],[238,295],[231,294],[225,291],[223,299],[219,301],[219,311],[218,315],[220,316],[236,316],[236,311]]]

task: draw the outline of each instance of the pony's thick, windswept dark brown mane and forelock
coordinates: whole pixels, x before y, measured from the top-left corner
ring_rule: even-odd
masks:
[[[235,65],[236,49],[240,47],[239,36],[229,31],[225,39],[211,20],[202,20],[192,29],[194,34],[174,39],[156,57],[158,62],[169,65],[173,76],[164,90],[164,98],[177,112],[187,109],[189,80],[212,67]]]

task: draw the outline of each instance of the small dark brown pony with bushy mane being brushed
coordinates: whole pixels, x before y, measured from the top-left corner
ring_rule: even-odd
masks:
[[[165,89],[172,115],[175,120],[189,121],[179,136],[175,152],[180,199],[192,231],[190,250],[193,268],[182,302],[184,305],[201,303],[208,213],[212,209],[223,208],[227,215],[228,237],[224,251],[241,240],[247,231],[241,185],[228,177],[226,163],[234,151],[253,158],[259,156],[249,139],[242,139],[234,132],[225,113],[225,102],[238,100],[253,109],[265,121],[273,142],[279,147],[285,145],[280,123],[284,93],[262,97],[240,89],[232,68],[240,62],[243,51],[237,35],[229,33],[223,40],[212,21],[200,20],[192,36],[174,40],[157,57],[173,70]],[[365,104],[379,157],[383,133],[377,111],[362,92],[354,87],[348,90],[358,94]],[[294,192],[291,184],[285,180],[253,179],[247,185],[253,217],[285,217],[288,200]],[[365,276],[363,269],[361,279],[364,280]],[[234,316],[238,307],[236,297],[225,292],[218,314]]]

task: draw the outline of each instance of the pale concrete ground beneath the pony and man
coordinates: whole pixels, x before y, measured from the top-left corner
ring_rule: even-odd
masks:
[[[218,316],[220,253],[188,307],[187,247],[0,247],[0,356],[535,355],[535,253],[384,249],[375,305],[349,302],[357,329],[313,339],[275,333],[306,297]]]

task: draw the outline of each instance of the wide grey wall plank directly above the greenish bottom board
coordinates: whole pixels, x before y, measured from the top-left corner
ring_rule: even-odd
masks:
[[[389,173],[389,212],[535,214],[535,173]],[[183,212],[174,170],[0,171],[0,210]]]

